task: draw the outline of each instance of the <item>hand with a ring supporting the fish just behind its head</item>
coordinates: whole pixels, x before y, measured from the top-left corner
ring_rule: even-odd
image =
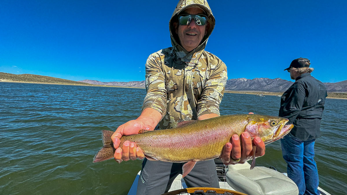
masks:
[[[253,114],[249,112],[248,114]],[[247,160],[251,159],[253,156],[253,146],[251,136],[247,132],[241,134],[242,142],[239,140],[237,134],[231,137],[231,143],[228,142],[225,144],[222,155],[220,159],[223,164],[237,164],[245,163]],[[242,143],[242,149],[241,149]],[[256,146],[255,157],[263,156],[265,154],[265,144],[260,137],[254,137],[253,144]]]

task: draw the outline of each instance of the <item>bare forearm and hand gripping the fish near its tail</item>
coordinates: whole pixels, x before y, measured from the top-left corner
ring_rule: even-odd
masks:
[[[141,116],[136,120],[130,120],[125,124],[119,126],[115,133],[111,136],[113,147],[115,147],[116,152],[114,158],[117,162],[122,162],[122,160],[128,161],[135,160],[136,158],[143,159],[145,157],[142,150],[137,147],[135,142],[125,141],[123,143],[122,149],[119,147],[120,138],[122,136],[138,134],[139,130],[154,130],[155,126],[161,120],[161,114],[152,109],[146,108],[142,111]]]

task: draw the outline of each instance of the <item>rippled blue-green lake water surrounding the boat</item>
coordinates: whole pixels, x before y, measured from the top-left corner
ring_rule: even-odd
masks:
[[[141,113],[145,89],[0,82],[0,194],[127,194],[141,160],[92,163],[100,130]],[[278,115],[280,97],[225,94],[221,115]],[[320,187],[345,194],[347,100],[327,99],[316,140]],[[286,172],[280,142],[257,166]]]

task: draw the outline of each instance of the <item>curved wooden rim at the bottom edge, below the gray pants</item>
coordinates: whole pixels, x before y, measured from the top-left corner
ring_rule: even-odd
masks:
[[[205,188],[205,187],[196,187],[196,188],[184,188],[184,189],[178,189],[175,191],[167,192],[162,195],[177,195],[180,193],[218,193],[218,194],[228,194],[228,195],[247,195],[242,192],[236,192],[234,190],[230,189],[222,189],[222,188]]]

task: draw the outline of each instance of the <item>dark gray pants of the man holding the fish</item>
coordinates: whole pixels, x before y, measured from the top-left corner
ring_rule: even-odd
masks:
[[[159,195],[169,191],[172,182],[182,174],[184,163],[150,161],[144,159],[138,178],[137,195]],[[194,168],[183,178],[187,187],[219,188],[214,160],[196,162]]]

